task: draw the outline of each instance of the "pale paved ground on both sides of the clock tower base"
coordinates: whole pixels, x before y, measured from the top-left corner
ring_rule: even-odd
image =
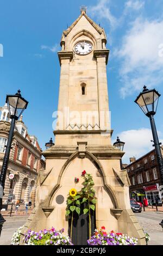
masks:
[[[149,245],[163,245],[163,231],[159,223],[163,219],[163,212],[141,212],[135,213],[143,230],[151,236]],[[7,220],[3,225],[0,238],[0,245],[10,245],[11,237],[17,228],[21,227],[27,220],[28,216],[5,217]],[[120,230],[121,231],[121,230]]]

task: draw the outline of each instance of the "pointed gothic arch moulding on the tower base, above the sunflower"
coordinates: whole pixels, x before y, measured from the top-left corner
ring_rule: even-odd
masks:
[[[59,177],[58,177],[58,182],[57,185],[55,185],[52,189],[52,191],[49,193],[48,199],[47,199],[47,207],[51,206],[52,204],[52,200],[54,197],[55,192],[59,189],[60,187],[60,182],[61,182],[61,177],[63,175],[63,173],[65,172],[66,168],[68,167],[68,165],[72,162],[72,160],[74,160],[77,156],[78,156],[79,152],[75,152],[73,153],[65,162],[64,166],[62,166]],[[106,184],[106,179],[105,179],[105,174],[104,174],[104,170],[103,167],[101,165],[101,163],[98,161],[98,159],[91,154],[89,151],[85,152],[85,156],[87,157],[87,159],[89,159],[94,165],[95,167],[98,169],[99,174],[101,175],[102,178],[102,184],[104,187],[104,190],[109,194],[110,199],[112,201],[112,204],[114,205],[115,209],[118,209],[118,203],[117,203],[117,199],[115,197],[114,192],[112,191],[111,187]]]

